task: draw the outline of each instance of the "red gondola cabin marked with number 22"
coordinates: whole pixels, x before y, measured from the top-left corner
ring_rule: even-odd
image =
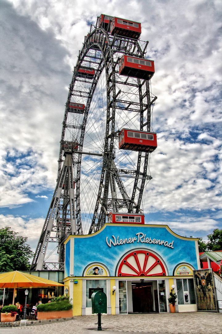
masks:
[[[156,148],[154,132],[122,129],[119,133],[119,149],[151,153]]]

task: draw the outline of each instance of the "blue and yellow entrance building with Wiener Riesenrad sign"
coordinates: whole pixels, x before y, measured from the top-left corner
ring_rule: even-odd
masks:
[[[65,288],[73,315],[92,315],[94,289],[107,295],[108,314],[196,311],[193,270],[200,269],[198,239],[167,225],[107,223],[90,235],[65,241]]]

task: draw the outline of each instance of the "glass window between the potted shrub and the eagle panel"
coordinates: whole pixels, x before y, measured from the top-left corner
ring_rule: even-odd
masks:
[[[193,279],[176,279],[176,288],[179,305],[196,304]]]

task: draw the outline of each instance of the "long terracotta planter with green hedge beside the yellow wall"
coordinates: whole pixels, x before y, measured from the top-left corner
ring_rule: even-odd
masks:
[[[72,307],[69,296],[56,297],[51,300],[51,303],[37,306],[37,318],[38,320],[69,318],[73,316]]]

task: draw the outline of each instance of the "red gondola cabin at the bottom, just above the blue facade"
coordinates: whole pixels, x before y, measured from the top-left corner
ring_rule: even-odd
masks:
[[[141,213],[116,213],[110,212],[108,215],[108,223],[119,224],[145,224],[144,214]]]

